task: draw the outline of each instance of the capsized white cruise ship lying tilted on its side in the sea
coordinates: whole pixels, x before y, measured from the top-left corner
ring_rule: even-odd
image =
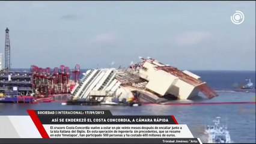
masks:
[[[139,97],[142,102],[160,103],[175,97],[192,99],[203,93],[207,98],[218,96],[206,82],[190,71],[180,71],[156,59],[139,57],[129,68],[88,70],[71,94],[73,100],[93,98],[98,101],[126,101]]]

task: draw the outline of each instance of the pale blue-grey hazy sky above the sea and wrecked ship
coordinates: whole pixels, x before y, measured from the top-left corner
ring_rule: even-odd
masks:
[[[181,70],[255,71],[255,1],[0,1],[2,67],[7,27],[11,68],[118,68],[150,56]]]

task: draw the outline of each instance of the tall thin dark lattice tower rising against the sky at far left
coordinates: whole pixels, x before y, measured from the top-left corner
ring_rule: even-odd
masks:
[[[9,39],[9,29],[5,29],[5,70],[11,69],[11,47]]]

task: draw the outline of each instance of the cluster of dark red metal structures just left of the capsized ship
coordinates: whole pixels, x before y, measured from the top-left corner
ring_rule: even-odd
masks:
[[[73,88],[74,81],[78,80],[80,67],[77,64],[75,69],[70,73],[69,67],[60,65],[51,70],[49,67],[40,68],[36,65],[31,65],[32,73],[32,88],[35,95],[48,97],[50,95],[70,94]],[[70,76],[73,74],[73,80]]]

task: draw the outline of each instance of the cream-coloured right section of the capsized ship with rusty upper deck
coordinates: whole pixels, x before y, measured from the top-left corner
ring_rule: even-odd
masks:
[[[139,76],[148,80],[145,88],[156,92],[160,97],[166,94],[175,95],[179,99],[190,99],[198,92],[202,92],[207,98],[213,98],[217,94],[206,82],[200,80],[190,71],[180,71],[170,65],[165,65],[156,59],[144,59],[137,64]]]

